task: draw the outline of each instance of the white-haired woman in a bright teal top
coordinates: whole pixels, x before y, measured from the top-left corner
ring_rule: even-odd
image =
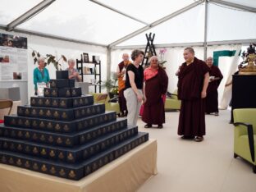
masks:
[[[38,95],[38,83],[44,82],[47,86],[50,81],[50,75],[48,69],[45,68],[45,62],[43,57],[39,57],[39,66],[34,69],[34,94]]]

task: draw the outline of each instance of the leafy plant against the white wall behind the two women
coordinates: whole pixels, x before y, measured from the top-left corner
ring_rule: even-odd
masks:
[[[34,59],[34,64],[38,61],[39,57],[43,57],[41,56],[41,54],[37,51],[32,51],[32,57]],[[53,66],[56,68],[56,70],[62,70],[62,64],[60,63],[61,61],[66,62],[66,57],[64,55],[62,55],[59,59],[57,59],[57,57],[53,56],[52,54],[46,54],[46,57],[44,58],[44,64],[46,65],[50,65],[53,64]]]

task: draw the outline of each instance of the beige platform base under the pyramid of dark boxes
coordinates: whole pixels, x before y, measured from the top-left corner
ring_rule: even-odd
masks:
[[[149,139],[80,181],[0,164],[2,192],[135,191],[157,171],[157,141]]]

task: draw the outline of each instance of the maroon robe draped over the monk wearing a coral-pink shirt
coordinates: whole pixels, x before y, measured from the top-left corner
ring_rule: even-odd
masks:
[[[158,74],[145,81],[145,94],[142,121],[149,125],[162,125],[165,122],[164,103],[162,94],[167,93],[168,76],[166,71],[159,67]]]

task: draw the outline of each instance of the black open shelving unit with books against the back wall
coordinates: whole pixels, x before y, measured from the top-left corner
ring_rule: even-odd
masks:
[[[93,66],[93,67],[90,67]],[[87,68],[85,68],[87,67]],[[84,81],[84,75],[94,75],[95,85],[94,86],[94,92],[97,93],[97,87],[98,92],[101,93],[101,62],[84,62],[83,58],[76,59],[76,69],[79,71],[79,74],[81,75],[82,82]],[[84,69],[90,69],[90,73],[84,73]]]

